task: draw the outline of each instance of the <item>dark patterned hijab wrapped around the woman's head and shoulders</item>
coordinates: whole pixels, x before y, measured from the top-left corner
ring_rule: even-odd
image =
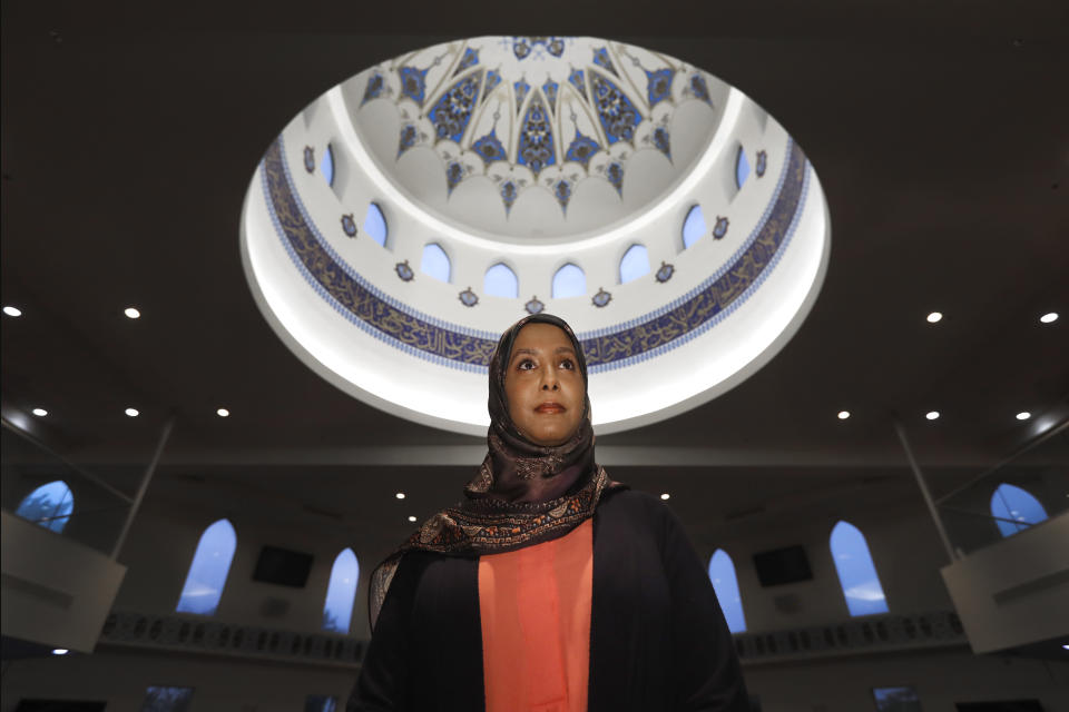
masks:
[[[528,324],[552,324],[571,340],[583,382],[583,414],[565,443],[542,446],[531,442],[509,416],[504,378],[512,345]],[[479,556],[516,551],[563,536],[594,516],[606,490],[626,487],[609,479],[594,462],[594,427],[586,394],[587,362],[568,324],[549,314],[523,317],[498,342],[490,358],[489,452],[474,478],[464,487],[464,501],[426,520],[371,575],[367,614],[372,629],[401,556],[429,551],[454,556]]]

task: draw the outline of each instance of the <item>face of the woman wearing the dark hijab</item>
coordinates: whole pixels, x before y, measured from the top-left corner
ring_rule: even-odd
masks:
[[[586,384],[571,339],[552,324],[528,324],[504,374],[509,416],[532,443],[561,445],[579,428]]]

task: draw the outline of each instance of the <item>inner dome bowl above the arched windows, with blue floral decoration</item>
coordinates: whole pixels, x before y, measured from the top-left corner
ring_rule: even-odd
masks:
[[[479,38],[412,52],[342,87],[383,176],[494,238],[627,220],[694,166],[727,87],[591,38]]]

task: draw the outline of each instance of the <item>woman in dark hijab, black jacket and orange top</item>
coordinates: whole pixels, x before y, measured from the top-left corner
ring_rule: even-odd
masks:
[[[489,453],[464,501],[372,574],[350,710],[748,709],[724,616],[678,520],[594,459],[587,367],[534,315],[490,362]]]

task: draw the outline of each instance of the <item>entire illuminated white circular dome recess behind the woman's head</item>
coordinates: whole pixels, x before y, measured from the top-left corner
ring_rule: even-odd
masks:
[[[500,333],[559,315],[608,433],[772,358],[816,298],[830,234],[802,149],[713,75],[595,38],[483,37],[308,105],[256,168],[242,256],[308,366],[461,433],[489,423]]]

